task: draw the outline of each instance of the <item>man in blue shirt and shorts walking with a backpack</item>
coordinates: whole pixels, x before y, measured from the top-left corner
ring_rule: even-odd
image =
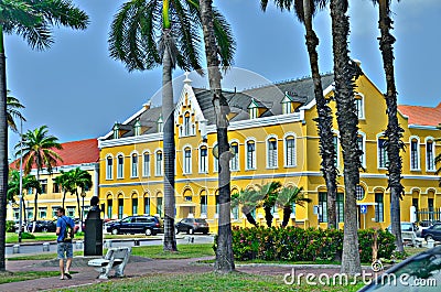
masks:
[[[67,279],[72,279],[72,275],[69,273],[71,269],[71,263],[72,263],[72,258],[74,257],[74,247],[72,246],[72,237],[73,237],[73,230],[75,227],[75,223],[71,217],[65,216],[65,210],[64,208],[58,208],[56,210],[56,216],[58,216],[58,219],[56,220],[56,235],[58,236],[56,238],[56,251],[58,253],[58,260],[60,260],[60,271],[61,271],[61,280],[64,280],[66,277]],[[72,234],[68,235],[66,232],[67,226],[71,228]],[[66,260],[66,269],[64,269],[64,258],[67,258]]]

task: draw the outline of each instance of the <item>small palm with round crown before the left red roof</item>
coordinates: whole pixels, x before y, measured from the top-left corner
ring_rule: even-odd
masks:
[[[40,172],[46,169],[47,173],[52,174],[52,169],[56,165],[57,161],[63,161],[62,158],[54,151],[54,149],[63,149],[58,143],[58,138],[47,134],[47,126],[42,126],[35,130],[29,130],[23,134],[22,145],[15,145],[15,156],[23,155],[23,171],[29,174],[32,169],[36,169],[36,180],[40,182]],[[34,225],[32,231],[35,229],[35,221],[37,215],[37,197],[39,192],[34,196]]]

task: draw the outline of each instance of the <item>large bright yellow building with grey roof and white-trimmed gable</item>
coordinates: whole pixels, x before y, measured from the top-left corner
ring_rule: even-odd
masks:
[[[333,95],[332,82],[332,75],[323,76],[326,97]],[[364,151],[365,169],[357,188],[359,227],[385,228],[389,225],[387,154],[381,139],[387,125],[386,105],[367,76],[361,76],[356,84],[359,147]],[[320,171],[319,136],[313,121],[316,110],[312,79],[225,95],[232,110],[228,139],[235,153],[230,161],[232,193],[271,181],[280,181],[283,186],[302,186],[312,203],[295,207],[290,225],[325,227],[325,183]],[[331,107],[335,112],[334,101]],[[430,110],[430,118],[424,117],[424,110]],[[218,210],[217,159],[213,155],[216,128],[209,90],[192,87],[186,77],[174,115],[176,218],[205,217],[214,231]],[[441,122],[441,104],[437,108],[402,106],[399,121],[405,129],[406,144],[406,152],[402,152],[406,196],[401,202],[405,221],[411,219],[412,205],[441,207],[441,188],[433,164],[435,153],[441,151],[434,142],[441,136],[435,128]],[[161,108],[147,104],[98,139],[99,194],[107,218],[136,214],[163,216],[162,122]],[[334,129],[337,166],[342,173],[335,119]],[[337,184],[337,214],[343,223],[343,177],[338,177]],[[265,224],[262,209],[254,215],[258,223]],[[275,209],[273,225],[280,225],[281,217],[281,210]],[[240,209],[232,210],[232,220],[234,225],[249,226]]]

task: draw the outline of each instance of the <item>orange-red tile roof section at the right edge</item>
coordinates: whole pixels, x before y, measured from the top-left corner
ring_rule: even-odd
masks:
[[[441,123],[441,102],[435,108],[398,106],[398,110],[409,117],[409,125],[438,126]]]

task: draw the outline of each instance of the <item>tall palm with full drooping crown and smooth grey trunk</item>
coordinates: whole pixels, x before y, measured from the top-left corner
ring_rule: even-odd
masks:
[[[219,22],[223,19],[219,17]],[[222,22],[220,22],[222,23]],[[109,36],[110,56],[131,72],[162,65],[164,119],[164,250],[175,251],[174,236],[174,106],[172,71],[200,69],[201,17],[194,0],[132,0],[115,15]],[[220,25],[219,31],[223,31]],[[224,32],[226,33],[226,32]],[[228,45],[222,44],[220,47]]]

